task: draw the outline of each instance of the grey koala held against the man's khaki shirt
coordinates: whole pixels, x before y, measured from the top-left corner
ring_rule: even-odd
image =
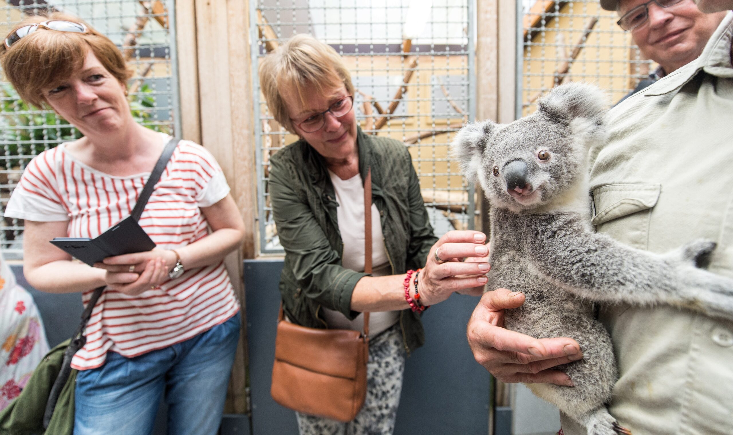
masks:
[[[462,128],[451,153],[490,204],[492,269],[486,290],[522,291],[507,329],[536,338],[572,337],[583,359],[560,365],[575,387],[528,384],[590,435],[630,434],[608,413],[618,377],[611,338],[594,304],[668,304],[733,318],[733,280],[701,267],[715,249],[691,241],[658,255],[600,233],[590,223],[587,153],[606,140],[600,89],[570,83],[513,123]]]

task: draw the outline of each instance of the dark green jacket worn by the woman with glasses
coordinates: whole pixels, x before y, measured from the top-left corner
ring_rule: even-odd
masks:
[[[358,130],[359,173],[372,168],[372,201],[377,206],[393,274],[424,266],[433,235],[410,153],[402,142]],[[351,293],[367,274],[341,266],[343,242],[336,195],[325,160],[302,139],[270,160],[270,201],[285,265],[280,278],[283,307],[291,321],[325,328],[320,307],[353,319]],[[399,315],[405,350],[424,343],[418,314]]]

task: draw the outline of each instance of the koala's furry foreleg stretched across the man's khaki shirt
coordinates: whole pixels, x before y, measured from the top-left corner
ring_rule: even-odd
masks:
[[[577,216],[523,216],[533,271],[591,301],[671,304],[733,318],[733,279],[696,268],[715,247],[695,241],[666,255],[592,233]]]

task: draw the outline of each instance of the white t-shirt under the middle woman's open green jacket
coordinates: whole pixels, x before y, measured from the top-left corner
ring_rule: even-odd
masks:
[[[336,216],[339,219],[339,232],[344,242],[342,266],[353,271],[364,271],[364,185],[361,175],[356,174],[342,180],[334,172],[331,183],[336,191]],[[372,276],[383,277],[392,273],[382,235],[382,225],[377,206],[372,202]],[[332,329],[364,329],[364,315],[350,321],[339,311],[323,309],[323,317]],[[399,320],[399,311],[372,312],[369,314],[369,337],[383,332]]]

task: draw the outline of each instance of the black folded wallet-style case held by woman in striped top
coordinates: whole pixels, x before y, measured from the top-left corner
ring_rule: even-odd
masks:
[[[101,263],[106,257],[150,251],[155,248],[155,242],[133,216],[122,219],[95,238],[56,237],[51,243],[89,266]]]

